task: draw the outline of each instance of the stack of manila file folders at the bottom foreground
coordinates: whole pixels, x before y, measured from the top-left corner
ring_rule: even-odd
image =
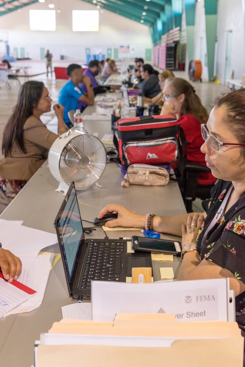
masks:
[[[242,367],[244,355],[237,323],[181,323],[162,313],[62,319],[36,344],[37,367]]]

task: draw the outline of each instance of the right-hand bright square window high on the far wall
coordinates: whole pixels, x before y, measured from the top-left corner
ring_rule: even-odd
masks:
[[[74,32],[98,32],[98,10],[73,10],[72,29]]]

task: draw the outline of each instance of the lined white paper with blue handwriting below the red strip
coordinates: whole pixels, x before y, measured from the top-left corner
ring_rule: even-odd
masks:
[[[0,278],[0,317],[6,315],[32,296],[33,294],[28,294]]]

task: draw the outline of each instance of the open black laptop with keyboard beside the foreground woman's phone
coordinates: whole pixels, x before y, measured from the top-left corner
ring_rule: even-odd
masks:
[[[55,219],[55,228],[73,298],[90,299],[91,280],[125,282],[132,276],[132,268],[152,268],[151,253],[128,253],[127,240],[85,239],[74,182]]]

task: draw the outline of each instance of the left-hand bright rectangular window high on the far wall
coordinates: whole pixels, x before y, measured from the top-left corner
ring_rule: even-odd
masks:
[[[56,30],[55,10],[30,10],[30,30]]]

